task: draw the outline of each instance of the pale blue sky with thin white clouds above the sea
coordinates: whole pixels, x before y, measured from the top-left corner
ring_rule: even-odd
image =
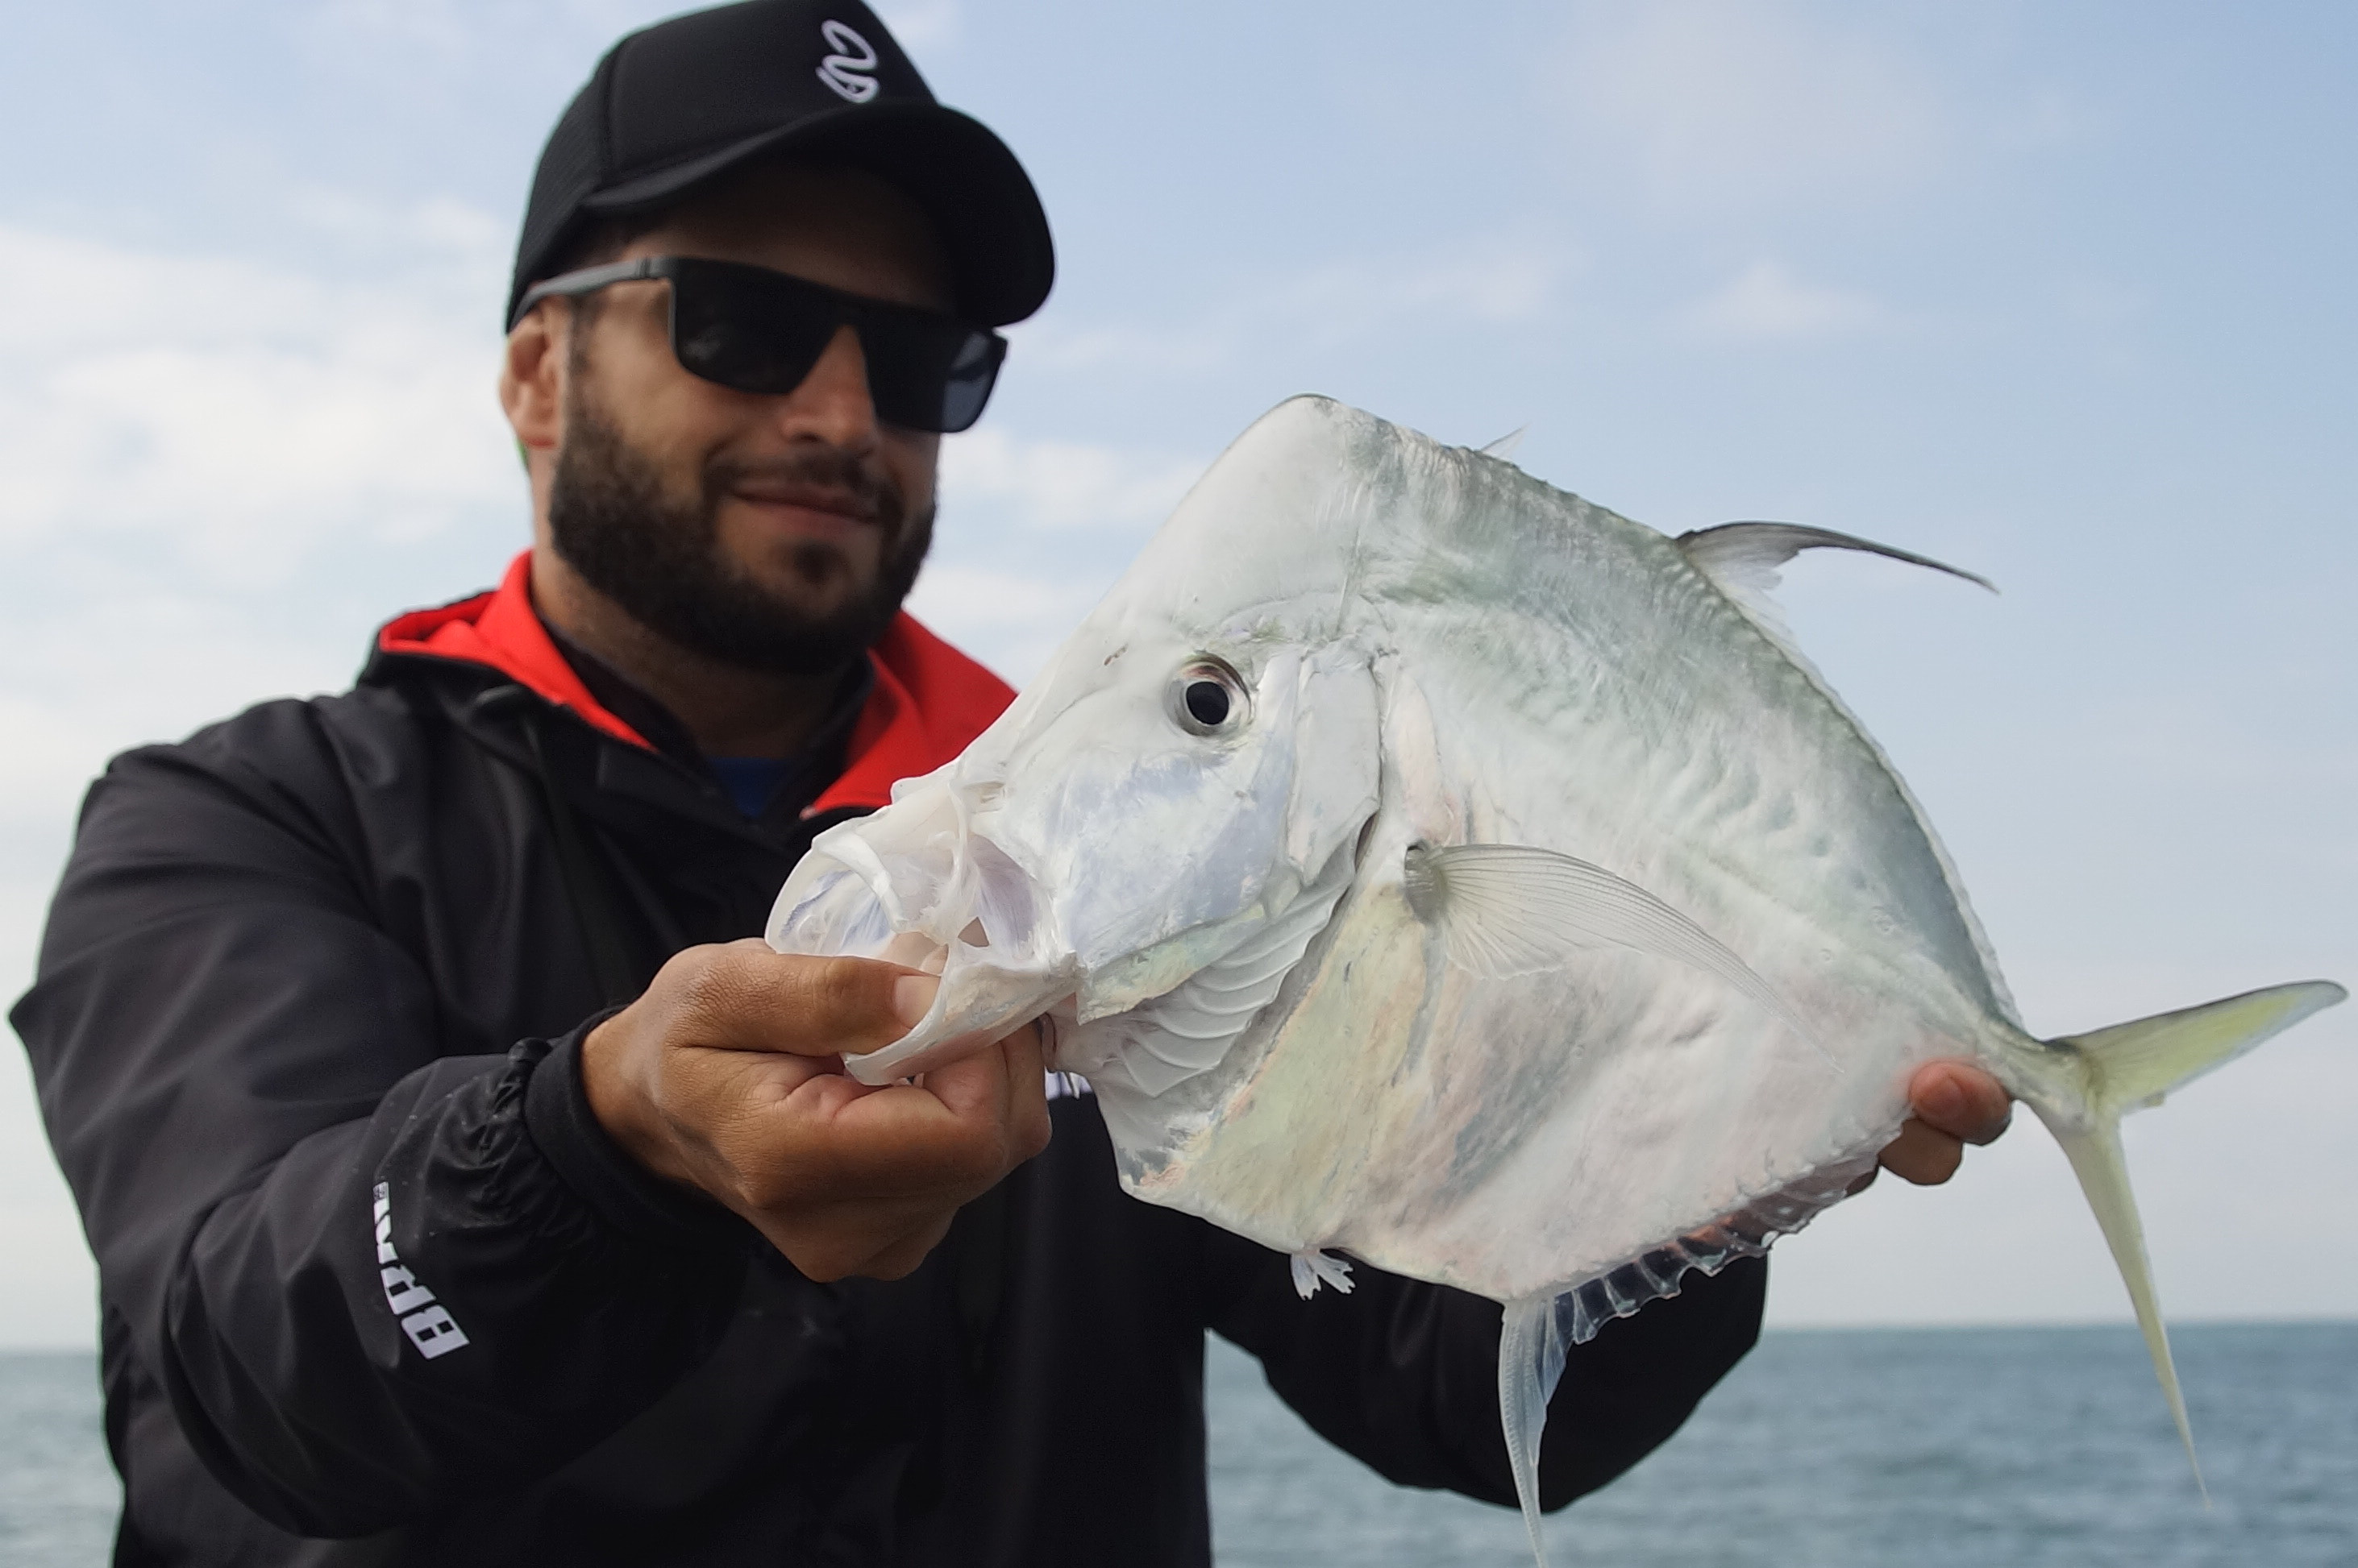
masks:
[[[83,780],[349,681],[526,533],[490,398],[547,125],[620,0],[9,7],[0,974]],[[917,608],[1021,679],[1292,391],[1665,531],[1811,521],[1804,646],[2033,1028],[2358,979],[2358,12],[884,7],[1030,165],[1061,281],[946,448]],[[2132,1125],[2179,1316],[2358,1313],[2358,1009]],[[1889,1188],[1889,1191],[1886,1191]],[[90,1273],[0,1063],[0,1344]],[[2037,1127],[1780,1250],[1773,1313],[2125,1316]]]

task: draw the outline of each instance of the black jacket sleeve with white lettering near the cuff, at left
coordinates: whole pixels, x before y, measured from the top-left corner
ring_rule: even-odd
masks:
[[[460,1030],[325,792],[205,740],[92,788],[12,1021],[189,1443],[264,1518],[365,1535],[653,1403],[717,1344],[752,1231],[606,1141],[587,1023],[439,1054]]]

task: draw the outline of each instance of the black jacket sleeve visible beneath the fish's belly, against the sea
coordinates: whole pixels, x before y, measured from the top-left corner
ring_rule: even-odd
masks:
[[[1283,1254],[1212,1233],[1212,1327],[1262,1358],[1323,1438],[1398,1485],[1514,1504],[1497,1412],[1500,1306],[1351,1266],[1353,1290],[1292,1287]],[[1561,1509],[1653,1452],[1759,1337],[1768,1271],[1745,1259],[1573,1346],[1540,1438],[1540,1507]]]

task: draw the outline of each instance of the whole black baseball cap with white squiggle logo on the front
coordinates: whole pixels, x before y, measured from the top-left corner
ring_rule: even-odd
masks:
[[[523,207],[507,318],[601,217],[653,212],[764,153],[861,167],[917,203],[957,314],[1023,321],[1056,252],[1023,165],[946,108],[858,0],[745,0],[630,33],[549,132]]]

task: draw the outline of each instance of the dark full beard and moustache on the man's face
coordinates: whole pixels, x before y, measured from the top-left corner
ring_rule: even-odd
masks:
[[[665,495],[656,465],[592,408],[580,375],[571,382],[566,441],[549,476],[549,538],[590,587],[658,637],[762,674],[828,674],[884,634],[934,542],[931,509],[910,516],[889,479],[835,448],[759,465],[766,479],[856,498],[884,535],[875,582],[814,615],[722,559],[722,498],[755,465],[712,457],[693,502]],[[818,540],[792,545],[792,561],[814,587],[847,571],[842,552]]]

